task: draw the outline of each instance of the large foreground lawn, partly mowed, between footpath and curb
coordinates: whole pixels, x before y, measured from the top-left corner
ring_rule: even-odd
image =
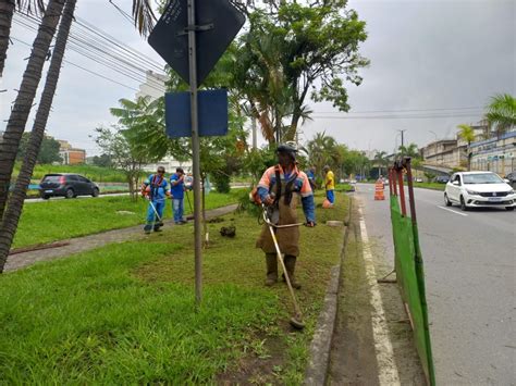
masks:
[[[300,384],[340,256],[343,228],[323,225],[345,217],[347,198],[336,196],[336,209],[318,209],[316,228],[302,228],[304,333],[287,324],[286,287],[263,286],[257,219],[235,213],[209,225],[197,312],[192,225],[0,276],[0,383]],[[236,237],[220,236],[231,224]]]

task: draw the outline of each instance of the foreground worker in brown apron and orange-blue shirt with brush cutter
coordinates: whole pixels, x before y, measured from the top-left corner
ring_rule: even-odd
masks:
[[[316,225],[314,194],[307,175],[296,167],[296,148],[281,145],[277,151],[279,164],[269,167],[258,184],[258,196],[265,210],[266,224],[256,246],[266,253],[266,286],[278,282],[278,262],[283,269],[283,279],[288,285],[296,306],[295,327],[303,328],[300,311],[292,288],[300,288],[295,278],[296,260],[299,256],[299,225],[297,203],[300,197],[306,225]]]

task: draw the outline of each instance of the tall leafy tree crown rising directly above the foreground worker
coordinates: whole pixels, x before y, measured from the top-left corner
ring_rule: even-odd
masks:
[[[279,130],[281,140],[295,138],[310,114],[307,98],[349,110],[343,79],[359,85],[358,70],[369,61],[358,52],[366,24],[346,3],[271,0],[247,8],[249,28],[238,42],[234,82],[269,142]]]

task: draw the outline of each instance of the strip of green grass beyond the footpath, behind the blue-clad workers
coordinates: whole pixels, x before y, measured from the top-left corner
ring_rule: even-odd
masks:
[[[206,196],[207,209],[237,202],[237,191],[230,194],[210,192]],[[188,194],[193,200],[192,192]],[[172,201],[167,200],[164,219],[172,217]],[[88,199],[49,200],[26,202],[14,238],[13,248],[52,242],[72,237],[85,236],[110,229],[144,224],[147,216],[147,201],[128,196]],[[185,214],[189,214],[187,199]]]

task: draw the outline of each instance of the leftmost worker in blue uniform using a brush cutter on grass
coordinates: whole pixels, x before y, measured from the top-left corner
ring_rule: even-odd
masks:
[[[164,178],[163,166],[159,166],[157,173],[149,175],[144,182],[142,185],[142,196],[149,200],[147,223],[144,226],[145,233],[149,234],[152,229],[160,232],[160,227],[163,226],[164,200],[167,197],[171,197],[167,179]]]

